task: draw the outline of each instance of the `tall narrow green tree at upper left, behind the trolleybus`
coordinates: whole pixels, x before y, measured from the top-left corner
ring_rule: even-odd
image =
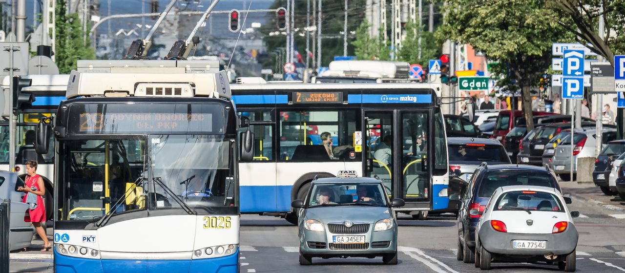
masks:
[[[84,39],[83,25],[78,13],[68,14],[68,2],[56,0],[56,65],[61,74],[76,69],[79,59],[95,59],[95,51],[89,46],[89,35]],[[89,29],[89,26],[87,27]]]

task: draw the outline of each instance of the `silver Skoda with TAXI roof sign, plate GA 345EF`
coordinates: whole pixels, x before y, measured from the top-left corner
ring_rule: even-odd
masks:
[[[374,178],[321,178],[311,182],[299,209],[299,264],[312,257],[382,257],[397,264],[397,219],[382,183]]]

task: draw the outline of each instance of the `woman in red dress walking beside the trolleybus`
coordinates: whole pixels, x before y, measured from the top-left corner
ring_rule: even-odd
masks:
[[[43,204],[43,198],[46,194],[46,187],[44,186],[43,179],[41,176],[36,174],[37,171],[37,162],[36,161],[26,161],[26,182],[24,183],[24,187],[19,187],[17,190],[26,193],[32,192],[37,196],[37,207],[35,209],[29,209],[29,214],[31,216],[32,226],[35,226],[35,230],[39,237],[44,242],[44,247],[41,251],[48,251],[52,244],[47,240],[46,230],[41,226],[41,222],[46,222],[46,208]],[[22,202],[26,202],[26,196]]]

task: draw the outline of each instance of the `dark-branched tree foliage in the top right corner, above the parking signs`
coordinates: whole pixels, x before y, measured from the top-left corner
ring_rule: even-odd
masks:
[[[603,11],[601,11],[603,6]],[[564,29],[581,44],[605,57],[612,66],[614,55],[625,53],[625,0],[555,0],[547,7]],[[599,18],[604,19],[605,36],[599,36]]]

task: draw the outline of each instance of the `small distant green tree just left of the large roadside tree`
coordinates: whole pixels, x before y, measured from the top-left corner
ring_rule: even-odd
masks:
[[[436,42],[432,32],[423,31],[423,26],[421,26],[421,57],[419,57],[419,35],[415,28],[411,22],[406,24],[406,39],[397,51],[397,59],[427,67],[429,60],[441,56],[441,44]]]

